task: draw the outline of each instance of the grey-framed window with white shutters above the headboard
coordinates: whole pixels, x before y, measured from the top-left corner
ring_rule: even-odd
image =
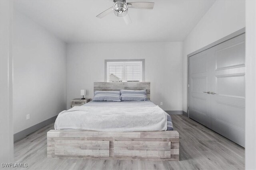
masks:
[[[144,81],[144,60],[105,60],[107,82]]]

